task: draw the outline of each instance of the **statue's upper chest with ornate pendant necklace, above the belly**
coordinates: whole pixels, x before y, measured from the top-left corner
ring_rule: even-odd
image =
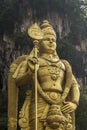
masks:
[[[42,61],[42,62],[41,62]],[[61,61],[49,62],[41,60],[39,64],[38,76],[45,78],[50,76],[52,80],[57,80],[65,71],[65,66]]]

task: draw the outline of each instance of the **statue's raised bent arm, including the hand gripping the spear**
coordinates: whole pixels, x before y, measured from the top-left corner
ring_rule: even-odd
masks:
[[[31,82],[36,63],[36,58],[27,56],[26,59],[18,65],[15,73],[13,74],[13,78],[15,79],[17,86],[24,86]]]

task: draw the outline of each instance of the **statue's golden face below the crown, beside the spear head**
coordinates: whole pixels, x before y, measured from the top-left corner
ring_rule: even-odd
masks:
[[[54,53],[56,50],[56,38],[54,35],[44,35],[40,50],[43,53]]]

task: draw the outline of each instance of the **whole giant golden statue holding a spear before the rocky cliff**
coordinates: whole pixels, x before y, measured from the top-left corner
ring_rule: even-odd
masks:
[[[79,85],[70,64],[56,53],[56,33],[47,20],[28,29],[34,48],[18,57],[8,75],[8,130],[75,130]],[[18,90],[31,84],[18,113]]]

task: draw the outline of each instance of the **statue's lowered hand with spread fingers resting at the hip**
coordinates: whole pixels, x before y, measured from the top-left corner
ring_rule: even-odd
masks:
[[[77,105],[72,102],[64,102],[64,106],[61,108],[63,113],[71,113],[76,110]]]

